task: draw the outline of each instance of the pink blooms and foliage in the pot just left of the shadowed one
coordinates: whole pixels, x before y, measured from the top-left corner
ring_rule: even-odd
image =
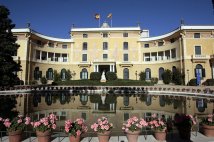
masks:
[[[152,115],[152,120],[148,122],[151,129],[155,131],[166,131],[166,122],[157,117],[156,114]]]

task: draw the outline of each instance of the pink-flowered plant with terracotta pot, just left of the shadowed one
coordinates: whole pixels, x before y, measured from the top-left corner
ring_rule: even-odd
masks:
[[[148,122],[148,124],[149,124],[150,128],[154,130],[155,138],[158,141],[166,140],[167,125],[163,119],[158,118],[156,114],[153,114],[151,121]]]

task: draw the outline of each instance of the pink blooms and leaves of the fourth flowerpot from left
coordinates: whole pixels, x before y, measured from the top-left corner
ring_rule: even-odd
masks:
[[[106,117],[98,118],[97,122],[91,125],[91,129],[98,133],[110,131],[112,128],[113,124],[109,123]]]

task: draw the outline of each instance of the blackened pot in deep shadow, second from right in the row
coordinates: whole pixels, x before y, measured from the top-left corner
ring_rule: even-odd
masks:
[[[191,126],[178,126],[178,132],[181,139],[190,141]]]

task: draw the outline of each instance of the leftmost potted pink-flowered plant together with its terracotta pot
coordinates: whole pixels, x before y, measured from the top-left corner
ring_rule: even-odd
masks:
[[[21,142],[22,132],[24,131],[25,127],[30,124],[30,120],[30,117],[24,118],[22,115],[14,117],[12,121],[10,121],[9,118],[1,118],[1,121],[7,129],[10,142]]]

